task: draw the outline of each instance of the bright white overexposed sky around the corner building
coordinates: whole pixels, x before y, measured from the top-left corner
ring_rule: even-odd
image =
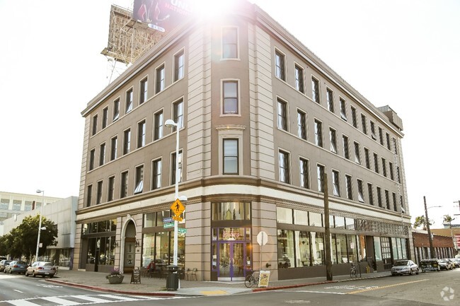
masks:
[[[425,213],[425,196],[432,228],[446,214],[460,224],[460,1],[250,2],[398,113],[410,214]],[[0,191],[79,195],[81,111],[110,80],[111,4],[133,1],[0,0]]]

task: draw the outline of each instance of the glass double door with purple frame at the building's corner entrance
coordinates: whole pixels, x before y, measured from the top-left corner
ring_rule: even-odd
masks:
[[[219,281],[243,281],[246,242],[219,242],[217,257]]]

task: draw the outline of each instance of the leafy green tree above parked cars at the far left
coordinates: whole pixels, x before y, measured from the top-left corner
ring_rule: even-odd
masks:
[[[39,223],[40,215],[27,216],[18,227],[13,228],[10,233],[6,234],[4,239],[6,240],[7,254],[10,254],[14,258],[24,255],[30,261],[37,249]],[[57,225],[51,220],[42,217],[43,227],[46,229],[40,232],[42,247],[38,251],[38,256],[45,254],[48,246],[57,245]]]

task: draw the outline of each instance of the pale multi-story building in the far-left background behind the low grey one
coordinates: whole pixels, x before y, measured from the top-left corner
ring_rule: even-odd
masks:
[[[45,196],[45,206],[62,200],[54,196]],[[0,235],[5,235],[8,230],[4,230],[4,221],[8,218],[21,215],[27,211],[42,206],[42,194],[18,194],[14,192],[0,192]]]

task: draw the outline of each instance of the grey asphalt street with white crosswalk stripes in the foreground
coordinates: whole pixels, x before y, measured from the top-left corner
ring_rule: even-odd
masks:
[[[243,285],[242,285],[243,286]],[[207,297],[154,297],[103,293],[0,273],[0,306],[45,305],[459,305],[460,269],[328,283],[301,288]],[[154,301],[153,301],[154,300]]]

